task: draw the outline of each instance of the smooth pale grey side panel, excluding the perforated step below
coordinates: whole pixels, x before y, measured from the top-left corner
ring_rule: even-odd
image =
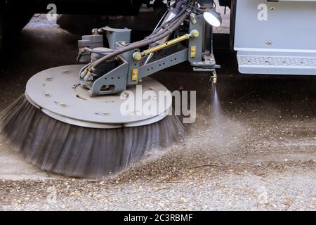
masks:
[[[268,20],[258,20],[259,4],[268,6]],[[315,40],[315,1],[237,0],[235,50],[316,52]]]

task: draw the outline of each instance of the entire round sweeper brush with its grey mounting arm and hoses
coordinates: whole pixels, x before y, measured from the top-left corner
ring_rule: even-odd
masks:
[[[204,41],[211,29],[202,16],[213,4],[204,2],[175,1],[152,34],[134,43],[129,29],[94,29],[79,41],[78,60],[86,65],[34,75],[1,113],[0,133],[41,169],[91,178],[183,140],[171,92],[148,76],[185,61],[195,71],[215,71],[211,40]]]

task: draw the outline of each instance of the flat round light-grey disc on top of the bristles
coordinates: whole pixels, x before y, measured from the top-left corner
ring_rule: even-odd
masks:
[[[92,97],[88,89],[79,85],[79,70],[82,66],[66,65],[34,75],[27,82],[25,91],[27,100],[55,120],[79,127],[100,129],[138,127],[158,122],[169,114],[172,96],[164,85],[154,79],[150,77],[143,79],[140,84],[141,92],[139,86],[138,91],[136,86],[130,86],[123,95]],[[150,95],[149,98],[141,98],[145,91],[153,91],[157,97],[151,98]],[[159,91],[168,94],[164,99],[159,98]],[[121,107],[122,103],[126,103],[127,98],[138,104],[138,107],[134,105],[135,110]],[[143,106],[149,103],[155,104],[157,110],[153,110],[150,115],[140,112]]]

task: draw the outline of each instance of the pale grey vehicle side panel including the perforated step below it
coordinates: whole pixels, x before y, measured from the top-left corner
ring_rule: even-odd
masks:
[[[237,0],[236,4],[239,72],[316,75],[316,0]]]

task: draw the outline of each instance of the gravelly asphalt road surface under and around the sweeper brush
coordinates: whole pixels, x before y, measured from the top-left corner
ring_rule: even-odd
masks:
[[[1,60],[0,109],[35,73],[76,63],[77,39],[34,18]],[[216,58],[218,113],[209,75],[185,63],[154,75],[197,91],[197,122],[183,143],[117,176],[43,172],[1,139],[0,210],[316,210],[316,77],[239,75],[235,53]]]

